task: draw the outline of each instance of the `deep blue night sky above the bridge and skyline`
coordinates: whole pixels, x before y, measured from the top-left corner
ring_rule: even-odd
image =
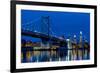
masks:
[[[35,27],[41,27],[42,16],[50,17],[50,28],[53,35],[65,35],[66,38],[69,35],[71,37],[76,35],[77,39],[79,39],[80,31],[82,31],[83,36],[90,42],[89,13],[21,10],[21,24],[30,23],[31,27],[31,22],[33,22]]]

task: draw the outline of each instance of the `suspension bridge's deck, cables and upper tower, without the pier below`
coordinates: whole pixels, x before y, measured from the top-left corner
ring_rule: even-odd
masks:
[[[31,36],[40,38],[42,41],[53,41],[67,43],[66,39],[56,36],[52,28],[50,27],[50,16],[41,16],[36,20],[22,24],[21,34],[25,36]]]

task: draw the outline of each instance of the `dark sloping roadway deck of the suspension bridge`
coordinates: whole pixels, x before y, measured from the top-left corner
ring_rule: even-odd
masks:
[[[55,36],[51,36],[51,35],[47,35],[47,34],[43,34],[41,32],[33,32],[33,31],[28,31],[28,30],[22,30],[21,34],[25,35],[25,36],[31,36],[31,37],[41,38],[41,39],[45,39],[45,40],[67,43],[67,41],[65,39],[55,37]]]

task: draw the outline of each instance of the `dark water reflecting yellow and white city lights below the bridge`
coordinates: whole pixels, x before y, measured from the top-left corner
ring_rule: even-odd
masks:
[[[21,52],[22,63],[88,60],[90,57],[88,49],[23,49],[24,51]]]

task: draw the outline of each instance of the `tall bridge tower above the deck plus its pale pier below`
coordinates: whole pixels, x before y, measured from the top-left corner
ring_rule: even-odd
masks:
[[[42,16],[41,17],[41,32],[43,34],[50,36],[50,17]],[[42,48],[50,48],[50,39],[42,39],[41,47]]]

